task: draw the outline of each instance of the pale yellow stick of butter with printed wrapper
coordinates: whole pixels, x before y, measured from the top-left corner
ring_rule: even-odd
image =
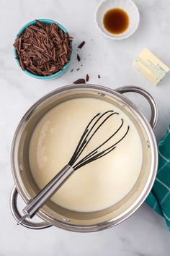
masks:
[[[158,82],[164,78],[169,67],[167,67],[160,59],[145,48],[139,56],[133,61],[135,66],[153,85],[157,85]]]

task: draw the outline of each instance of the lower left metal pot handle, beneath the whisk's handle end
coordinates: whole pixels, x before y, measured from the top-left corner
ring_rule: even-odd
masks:
[[[19,213],[19,210],[17,208],[17,188],[14,186],[12,189],[11,197],[10,197],[10,207],[12,211],[12,215],[14,216],[15,220],[18,222],[22,216]],[[50,225],[49,223],[42,221],[42,222],[31,222],[31,221],[22,221],[21,223],[22,226],[28,228],[28,229],[46,229],[49,228]]]

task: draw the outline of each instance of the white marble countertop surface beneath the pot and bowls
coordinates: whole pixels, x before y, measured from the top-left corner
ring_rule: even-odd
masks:
[[[39,4],[37,4],[39,3]],[[62,85],[90,75],[91,83],[117,88],[138,85],[156,98],[159,119],[156,138],[164,134],[170,121],[170,74],[154,87],[137,70],[132,61],[144,47],[148,47],[170,66],[170,5],[168,1],[135,0],[140,12],[136,33],[122,41],[112,41],[99,33],[94,12],[99,0],[1,0],[0,21],[0,255],[115,255],[169,256],[169,231],[164,219],[146,204],[127,221],[115,228],[93,234],[76,234],[55,227],[32,231],[17,226],[9,209],[9,195],[14,184],[10,168],[10,148],[14,130],[22,115],[38,98]],[[68,72],[58,80],[40,81],[28,77],[14,61],[12,43],[19,28],[30,20],[49,18],[61,22],[74,36],[76,46],[86,40],[80,51],[83,67],[74,60]],[[93,39],[93,40],[91,40]],[[76,47],[75,47],[76,48]],[[97,78],[101,75],[101,79]],[[138,95],[130,95],[149,116],[149,108]]]

